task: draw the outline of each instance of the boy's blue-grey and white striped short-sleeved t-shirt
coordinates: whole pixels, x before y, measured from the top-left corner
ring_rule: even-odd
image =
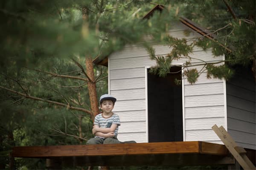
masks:
[[[111,127],[112,124],[117,124],[117,127],[114,130],[114,134],[117,135],[118,126],[120,126],[119,116],[117,114],[113,113],[112,116],[110,116],[108,118],[104,118],[102,116],[102,114],[103,113],[95,116],[94,125],[98,125],[101,128],[108,128],[108,127]]]

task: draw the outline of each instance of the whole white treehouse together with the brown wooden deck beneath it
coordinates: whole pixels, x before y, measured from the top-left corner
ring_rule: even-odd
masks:
[[[150,17],[163,6],[155,6]],[[186,32],[186,34],[184,34]],[[188,34],[189,33],[189,34]],[[169,34],[188,41],[212,35],[192,21],[181,18]],[[166,56],[171,48],[152,44],[157,55]],[[195,47],[192,68],[202,69],[202,61],[223,64],[225,56],[214,57],[211,50]],[[94,63],[108,67],[109,94],[116,97],[114,113],[121,120],[118,139],[137,143],[104,145],[65,145],[14,147],[13,156],[46,158],[47,167],[61,166],[185,166],[235,165],[235,157],[212,129],[223,126],[238,145],[247,148],[255,164],[255,81],[247,70],[237,71],[233,79],[207,78],[203,72],[195,84],[184,79],[187,59],[172,62],[165,78],[149,73],[155,60],[140,44],[126,45]],[[175,79],[182,79],[180,85]],[[228,135],[224,135],[228,136]],[[233,150],[234,151],[234,150]],[[245,151],[241,151],[245,153]],[[239,153],[241,153],[239,151]],[[232,167],[231,167],[232,168]],[[233,167],[237,168],[237,167]]]

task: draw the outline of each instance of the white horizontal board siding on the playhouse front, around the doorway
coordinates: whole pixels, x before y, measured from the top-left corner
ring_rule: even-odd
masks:
[[[193,39],[200,35],[191,32],[189,37],[183,34],[187,29],[182,24],[175,26],[169,34],[174,37]],[[153,45],[157,55],[165,56],[172,48],[163,45]],[[211,50],[203,51],[195,47],[190,55],[205,61],[220,61],[223,56],[213,57]],[[185,63],[188,59],[172,62],[173,65]],[[191,62],[200,64],[202,61],[192,59]],[[117,102],[113,112],[119,115],[121,126],[118,139],[120,141],[147,141],[146,125],[146,81],[145,67],[156,65],[149,59],[149,54],[141,45],[127,45],[123,50],[109,56],[109,89]],[[219,65],[219,64],[218,64]],[[195,66],[201,70],[202,66]],[[214,124],[225,125],[224,80],[207,79],[203,73],[194,85],[184,81],[184,141],[207,141],[221,143],[211,127]]]

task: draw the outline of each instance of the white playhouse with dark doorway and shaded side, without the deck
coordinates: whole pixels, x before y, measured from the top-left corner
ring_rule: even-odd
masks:
[[[150,17],[155,6],[144,18]],[[184,34],[186,32],[186,34]],[[189,33],[189,34],[188,34]],[[181,18],[173,23],[169,34],[186,38],[214,37],[191,20]],[[166,56],[172,48],[152,44],[156,55]],[[225,56],[215,57],[212,49],[195,47],[191,68],[201,71],[202,61],[221,65]],[[126,45],[108,57],[96,58],[94,63],[108,67],[109,94],[116,97],[113,112],[121,119],[118,139],[142,142],[204,141],[222,144],[212,130],[223,126],[233,139],[245,148],[256,148],[255,80],[250,70],[236,68],[235,76],[225,79],[207,78],[203,72],[195,84],[184,76],[187,58],[173,60],[165,78],[150,74],[156,65],[142,45]],[[183,79],[181,85],[175,79]]]

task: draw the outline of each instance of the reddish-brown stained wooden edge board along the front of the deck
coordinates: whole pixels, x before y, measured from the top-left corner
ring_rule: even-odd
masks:
[[[14,147],[14,157],[46,158],[61,156],[122,156],[169,153],[200,153],[226,155],[223,145],[208,143],[200,148],[202,142],[157,142],[131,144],[93,144],[93,145],[62,145],[62,146],[30,146]],[[221,148],[214,150],[213,148]]]

